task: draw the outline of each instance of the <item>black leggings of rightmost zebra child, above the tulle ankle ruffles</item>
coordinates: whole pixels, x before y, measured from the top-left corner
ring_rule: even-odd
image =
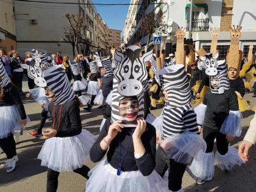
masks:
[[[207,126],[203,127],[203,138],[207,144],[206,153],[211,153],[214,150],[214,140],[216,138],[217,150],[221,155],[228,152],[228,142],[226,135],[218,130],[211,129]]]

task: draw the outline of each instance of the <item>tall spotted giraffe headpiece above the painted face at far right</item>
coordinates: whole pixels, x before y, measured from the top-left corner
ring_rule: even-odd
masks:
[[[235,28],[233,25],[233,27],[230,27],[230,29],[231,29],[230,46],[227,52],[226,60],[227,60],[228,69],[234,68],[238,70],[237,76],[236,76],[238,77],[240,72],[242,55],[243,55],[243,51],[239,50],[239,41],[242,36],[242,33],[241,33],[242,27],[237,26],[237,28]]]

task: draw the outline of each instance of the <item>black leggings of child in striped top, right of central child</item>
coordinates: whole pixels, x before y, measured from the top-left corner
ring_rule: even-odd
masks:
[[[178,163],[170,159],[164,150],[158,146],[156,153],[156,172],[163,177],[166,170],[169,169],[168,188],[172,191],[181,189],[182,177],[186,170],[186,164]]]

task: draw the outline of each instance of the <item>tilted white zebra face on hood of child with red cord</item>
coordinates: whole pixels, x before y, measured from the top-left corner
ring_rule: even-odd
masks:
[[[44,88],[46,87],[46,80],[38,62],[39,60],[35,62],[33,58],[28,58],[26,64],[21,63],[20,66],[27,69],[29,78],[34,79],[36,86]]]

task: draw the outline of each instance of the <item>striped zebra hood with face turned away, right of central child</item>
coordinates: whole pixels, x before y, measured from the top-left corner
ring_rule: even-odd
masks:
[[[163,68],[159,75],[162,76],[161,86],[168,94],[168,108],[178,108],[190,103],[191,91],[183,64]]]

